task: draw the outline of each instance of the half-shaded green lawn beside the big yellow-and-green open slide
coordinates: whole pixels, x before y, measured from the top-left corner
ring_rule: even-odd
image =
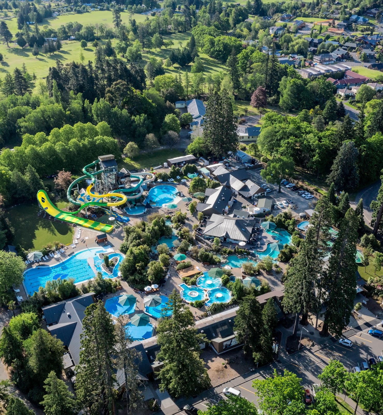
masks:
[[[58,203],[64,207],[63,203]],[[73,228],[65,223],[51,222],[37,216],[36,203],[19,205],[7,211],[7,217],[15,228],[15,243],[24,249],[41,249],[55,241],[69,244],[72,241]]]

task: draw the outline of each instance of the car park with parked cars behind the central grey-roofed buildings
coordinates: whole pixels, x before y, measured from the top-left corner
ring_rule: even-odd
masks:
[[[257,183],[257,185],[261,185],[266,183],[266,181],[261,177],[261,168],[258,168],[256,170],[248,170],[248,173],[250,175],[250,179]],[[282,202],[283,200],[292,200],[294,205],[298,205],[298,207],[294,207],[294,211],[298,215],[299,213],[303,212],[306,209],[313,209],[315,203],[317,202],[317,198],[313,198],[310,200],[307,200],[305,198],[302,198],[300,195],[298,195],[298,190],[295,192],[289,190],[286,188],[286,186],[281,186],[281,193],[278,193],[278,185],[267,183],[267,187],[270,188],[272,191],[271,193],[268,193],[267,196],[269,198],[273,198],[275,202]],[[275,213],[279,213],[286,209],[278,209],[278,211],[275,211]]]

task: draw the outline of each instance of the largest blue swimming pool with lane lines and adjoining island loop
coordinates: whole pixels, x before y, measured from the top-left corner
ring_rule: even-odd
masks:
[[[122,254],[109,254],[109,259],[117,257],[119,259],[116,266],[113,268],[113,273],[109,275],[102,270],[101,264],[102,259],[99,258],[98,254],[105,252],[102,248],[88,248],[82,251],[76,252],[64,261],[59,262],[53,266],[38,266],[35,268],[27,269],[24,272],[24,286],[29,295],[33,295],[35,291],[39,291],[39,287],[45,287],[46,281],[57,280],[61,278],[73,278],[75,283],[87,281],[95,277],[95,273],[88,264],[88,258],[92,258],[95,263],[97,271],[102,273],[104,278],[114,278],[118,275],[119,264],[121,263],[124,255]]]

